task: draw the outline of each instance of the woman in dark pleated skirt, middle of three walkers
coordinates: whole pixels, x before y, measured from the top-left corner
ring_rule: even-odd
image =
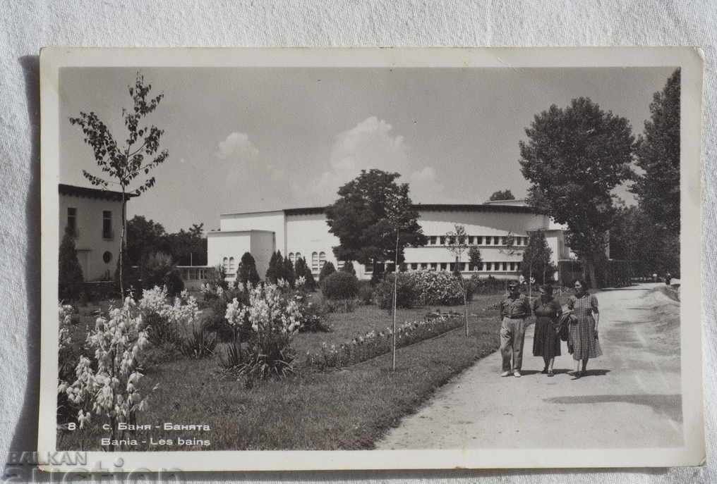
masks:
[[[552,286],[541,286],[540,297],[533,301],[533,314],[536,316],[533,336],[533,356],[543,357],[545,367],[542,373],[553,376],[555,357],[560,356],[559,323],[563,309],[553,298]]]

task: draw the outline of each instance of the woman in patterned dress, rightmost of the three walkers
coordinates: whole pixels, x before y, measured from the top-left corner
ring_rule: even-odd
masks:
[[[588,293],[585,281],[575,281],[575,295],[570,296],[568,308],[573,311],[574,316],[574,322],[569,328],[569,343],[572,345],[575,360],[573,375],[575,378],[580,378],[587,371],[589,359],[602,355],[600,342],[597,339],[597,324],[600,316],[597,310],[597,297]]]

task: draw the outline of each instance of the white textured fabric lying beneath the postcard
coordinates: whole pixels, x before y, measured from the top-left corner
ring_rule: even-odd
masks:
[[[705,402],[716,397],[714,148],[716,1],[0,1],[0,459],[36,449],[39,373],[37,56],[68,46],[694,45],[706,57],[703,147]],[[635,127],[640,129],[640,127]],[[683,274],[683,277],[689,277]],[[692,275],[696,277],[697,275]],[[698,324],[698,321],[683,321]],[[193,475],[204,480],[422,480],[473,483],[710,483],[717,412],[706,405],[708,467],[597,471],[440,471]]]

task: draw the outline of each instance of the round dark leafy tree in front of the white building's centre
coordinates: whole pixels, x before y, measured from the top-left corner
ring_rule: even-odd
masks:
[[[340,242],[333,248],[339,261],[369,265],[397,259],[401,263],[404,247],[425,245],[408,184],[396,183],[399,176],[375,169],[361,170],[359,176],[338,189],[338,200],[326,208],[326,223]]]

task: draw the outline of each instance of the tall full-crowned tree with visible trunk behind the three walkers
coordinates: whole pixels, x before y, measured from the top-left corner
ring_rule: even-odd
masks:
[[[633,176],[630,122],[579,97],[536,115],[526,135],[520,163],[531,182],[528,203],[566,224],[566,242],[595,287],[595,261],[604,258],[617,213],[611,191]]]

